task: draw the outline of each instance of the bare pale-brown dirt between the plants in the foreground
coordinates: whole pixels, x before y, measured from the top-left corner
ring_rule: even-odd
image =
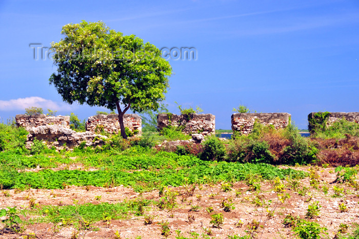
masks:
[[[76,167],[78,168],[78,165]],[[310,167],[295,167],[297,170],[308,171]],[[295,238],[294,232],[290,227],[285,227],[283,220],[286,215],[300,216],[305,218],[308,205],[318,201],[320,208],[319,216],[309,219],[309,221],[317,222],[328,230],[328,237],[333,238],[338,231],[340,224],[351,226],[353,223],[359,223],[359,198],[358,192],[353,188],[344,186],[346,193],[342,197],[334,198],[333,183],[336,179],[336,173],[333,168],[318,168],[319,178],[318,189],[313,188],[309,184],[309,178],[300,181],[300,187],[309,188],[307,195],[301,196],[298,192],[288,189],[286,193],[290,194],[290,198],[284,203],[277,200],[277,193],[273,191],[273,182],[263,180],[261,183],[261,191],[250,191],[244,182],[236,182],[228,192],[221,189],[221,184],[196,186],[193,195],[183,200],[183,194],[186,189],[184,187],[171,187],[173,191],[178,191],[176,197],[176,207],[168,211],[160,210],[155,205],[146,207],[145,214],[153,215],[153,222],[150,225],[144,225],[144,216],[133,215],[128,220],[111,220],[110,223],[96,222],[91,226],[95,230],[80,231],[79,238],[114,238],[115,232],[118,231],[121,238],[164,238],[161,235],[161,222],[168,222],[170,234],[168,238],[177,236],[176,230],[181,231],[184,237],[193,237],[190,233],[196,232],[200,234],[209,234],[214,238],[227,238],[229,235],[248,235],[248,225],[253,220],[260,222],[260,227],[253,233],[257,238]],[[286,182],[285,182],[286,183]],[[329,187],[328,193],[323,192],[323,185]],[[240,195],[236,195],[236,190],[241,191]],[[5,191],[5,190],[3,190]],[[66,189],[29,189],[21,192],[15,190],[6,190],[10,193],[10,197],[5,197],[4,193],[0,196],[0,209],[6,207],[17,206],[18,209],[29,207],[29,198],[34,198],[35,203],[41,205],[73,205],[73,200],[78,200],[78,204],[82,203],[118,203],[124,200],[132,200],[137,198],[151,199],[158,201],[160,199],[158,190],[144,192],[142,194],[134,192],[132,188],[118,186],[114,188],[102,187],[75,187],[68,186]],[[96,200],[96,196],[101,196],[101,200]],[[237,197],[236,197],[237,196]],[[272,200],[268,206],[269,211],[273,211],[273,215],[268,217],[267,209],[264,206],[256,206],[253,200],[259,196],[262,202]],[[98,198],[98,197],[97,197]],[[221,207],[223,199],[232,198],[235,209],[225,212]],[[258,197],[257,197],[258,198]],[[344,203],[347,211],[341,212],[339,205]],[[198,211],[190,211],[191,205],[198,205]],[[209,213],[206,208],[213,207],[214,211]],[[210,224],[211,214],[223,213],[224,222],[221,228],[214,228]],[[194,218],[193,218],[193,217]],[[5,218],[2,218],[5,219]],[[24,218],[23,218],[24,219]],[[192,220],[189,220],[192,219]],[[242,222],[242,226],[238,226],[238,222]],[[24,234],[35,233],[38,238],[71,238],[76,231],[73,227],[59,227],[58,231],[54,230],[51,223],[38,223],[24,225],[26,230]],[[22,238],[17,234],[2,234],[0,238]]]

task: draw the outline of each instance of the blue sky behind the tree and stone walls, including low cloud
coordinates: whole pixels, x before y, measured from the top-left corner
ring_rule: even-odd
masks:
[[[196,60],[169,59],[166,103],[199,105],[230,128],[233,107],[287,112],[298,128],[310,112],[358,112],[359,1],[1,1],[0,121],[29,106],[85,119],[104,108],[62,102],[49,77],[49,47],[62,26],[102,20],[159,49],[194,47]]]

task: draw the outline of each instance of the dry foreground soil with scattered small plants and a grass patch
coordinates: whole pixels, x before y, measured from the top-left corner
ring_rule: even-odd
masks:
[[[349,183],[357,170],[292,169],[308,177],[247,176],[144,192],[122,185],[7,189],[0,205],[16,207],[17,233],[39,238],[357,238],[358,191]]]

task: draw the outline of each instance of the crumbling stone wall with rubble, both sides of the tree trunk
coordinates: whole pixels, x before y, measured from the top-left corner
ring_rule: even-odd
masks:
[[[119,123],[117,115],[96,115],[88,118],[86,132],[76,132],[70,129],[70,116],[46,116],[46,115],[16,115],[16,125],[24,127],[29,135],[27,136],[27,148],[31,148],[32,141],[44,140],[47,146],[57,149],[73,148],[85,142],[86,146],[103,145],[106,136],[96,134],[97,124],[104,125],[104,131],[118,133]],[[142,120],[138,115],[125,115],[124,123],[133,132],[142,132]]]

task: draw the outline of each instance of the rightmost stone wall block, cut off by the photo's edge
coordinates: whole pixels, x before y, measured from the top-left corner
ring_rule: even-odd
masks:
[[[324,120],[323,120],[323,116],[325,116]],[[315,125],[314,125],[315,122],[326,124],[325,126],[328,127],[328,126],[332,125],[334,122],[340,121],[343,118],[350,122],[359,123],[359,112],[349,112],[349,113],[346,113],[346,112],[312,112],[308,115],[309,132],[313,131],[313,129],[315,127]]]

